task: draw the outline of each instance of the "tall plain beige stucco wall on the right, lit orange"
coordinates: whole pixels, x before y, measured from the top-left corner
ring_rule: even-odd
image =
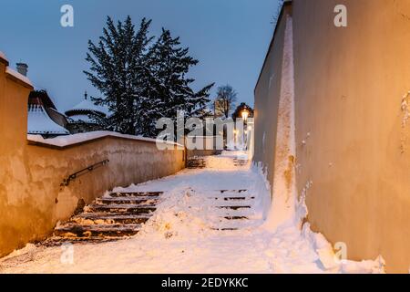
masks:
[[[347,27],[333,26],[339,4]],[[302,193],[313,182],[308,220],[332,243],[346,243],[350,259],[383,255],[387,272],[407,273],[410,120],[403,124],[401,107],[410,90],[410,2],[294,0],[292,18],[297,184]],[[278,89],[263,93],[272,69],[263,69],[255,91],[255,157],[268,166],[261,131],[274,134],[275,126],[258,116],[277,108]]]

